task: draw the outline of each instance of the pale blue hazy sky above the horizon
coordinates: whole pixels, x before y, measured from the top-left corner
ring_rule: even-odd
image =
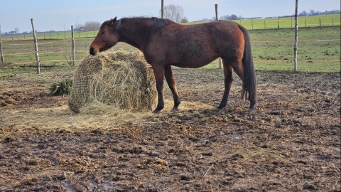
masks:
[[[188,21],[235,14],[250,17],[286,16],[295,12],[295,0],[164,0],[182,6]],[[102,23],[110,18],[160,16],[161,0],[0,0],[1,32],[65,31],[87,21]],[[340,0],[299,0],[298,11],[340,10]]]

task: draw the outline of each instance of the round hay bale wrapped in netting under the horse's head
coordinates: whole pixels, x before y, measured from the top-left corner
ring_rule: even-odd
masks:
[[[83,59],[75,71],[70,110],[101,102],[121,110],[151,111],[156,103],[151,66],[141,53],[118,51]]]

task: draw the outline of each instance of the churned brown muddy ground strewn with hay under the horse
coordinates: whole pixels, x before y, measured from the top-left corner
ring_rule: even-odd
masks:
[[[48,93],[71,74],[0,80],[0,191],[340,191],[340,73],[257,72],[251,114],[237,75],[218,111],[221,70],[174,73],[161,114],[74,114]]]

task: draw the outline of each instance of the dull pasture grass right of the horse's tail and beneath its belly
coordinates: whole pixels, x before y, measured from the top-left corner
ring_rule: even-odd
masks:
[[[293,70],[291,28],[249,31],[256,70]],[[340,72],[340,26],[300,28],[298,31],[298,70]],[[204,68],[218,68],[217,60]]]

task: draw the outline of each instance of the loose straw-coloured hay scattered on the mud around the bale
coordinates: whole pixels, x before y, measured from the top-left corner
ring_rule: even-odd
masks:
[[[120,110],[102,102],[92,102],[83,107],[78,114],[71,112],[67,106],[52,108],[32,108],[26,110],[12,110],[4,117],[3,126],[12,127],[16,132],[28,132],[28,129],[55,130],[68,129],[70,131],[86,131],[89,129],[121,129],[126,126],[142,126],[152,123],[153,117],[167,117],[172,111],[173,100],[165,100],[165,108],[160,114],[151,112],[132,112]],[[190,110],[212,110],[211,105],[202,102],[182,102],[179,114],[186,114]],[[156,121],[157,119],[156,118]],[[17,121],[21,119],[21,121]]]

